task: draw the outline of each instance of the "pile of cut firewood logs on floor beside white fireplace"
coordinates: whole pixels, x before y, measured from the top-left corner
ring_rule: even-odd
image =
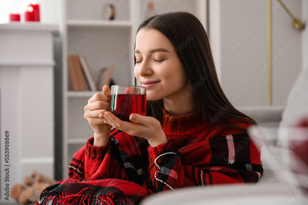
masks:
[[[11,190],[11,198],[18,201],[19,204],[35,203],[39,201],[40,193],[51,185],[57,183],[36,171],[33,171],[30,177],[26,176],[23,180],[24,185],[15,184]]]

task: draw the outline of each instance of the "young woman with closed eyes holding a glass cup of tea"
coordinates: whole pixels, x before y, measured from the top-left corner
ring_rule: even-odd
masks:
[[[41,199],[139,203],[155,192],[261,177],[260,152],[247,133],[256,122],[223,93],[195,16],[175,12],[142,22],[134,74],[147,88],[147,116],[131,114],[126,122],[108,112],[105,85],[84,108],[94,136],[73,157],[70,179]]]

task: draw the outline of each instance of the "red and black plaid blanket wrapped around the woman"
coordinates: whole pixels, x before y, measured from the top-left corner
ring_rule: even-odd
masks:
[[[148,195],[162,191],[196,185],[252,183],[263,174],[260,149],[248,133],[215,137],[180,149],[173,140],[158,148],[142,149],[137,137],[119,133],[116,129],[111,131],[102,156],[87,153],[87,146],[93,142],[93,137],[90,138],[71,161],[70,179],[47,187],[37,205],[48,201],[52,202],[48,204],[139,204]],[[138,147],[127,152],[134,143]],[[89,175],[87,172],[91,172],[88,180],[84,179]]]

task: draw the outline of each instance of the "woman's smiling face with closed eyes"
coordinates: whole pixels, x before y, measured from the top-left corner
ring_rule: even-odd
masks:
[[[178,99],[189,91],[184,68],[171,41],[154,29],[136,36],[135,77],[147,88],[147,100]]]

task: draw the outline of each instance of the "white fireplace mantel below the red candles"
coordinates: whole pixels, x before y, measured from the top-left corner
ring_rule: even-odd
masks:
[[[10,190],[38,171],[54,178],[54,57],[57,25],[0,24],[0,204]],[[39,35],[38,35],[39,34]],[[22,53],[21,47],[26,47]],[[5,162],[9,132],[9,163]],[[4,169],[9,166],[9,182]]]

